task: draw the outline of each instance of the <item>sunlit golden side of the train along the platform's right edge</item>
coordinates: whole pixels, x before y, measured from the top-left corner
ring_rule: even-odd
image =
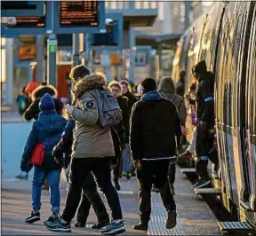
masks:
[[[215,122],[223,205],[256,225],[256,2],[218,2],[180,37],[172,78],[205,59],[215,75]]]

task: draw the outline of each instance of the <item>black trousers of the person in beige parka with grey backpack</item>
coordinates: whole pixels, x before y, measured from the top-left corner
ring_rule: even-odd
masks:
[[[122,219],[122,209],[116,188],[110,178],[110,158],[74,158],[71,161],[69,188],[62,218],[70,222],[76,214],[85,178],[92,171],[100,191],[108,201],[112,219]]]

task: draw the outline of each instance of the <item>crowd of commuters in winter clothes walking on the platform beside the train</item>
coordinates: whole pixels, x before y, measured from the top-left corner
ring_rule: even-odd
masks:
[[[152,190],[161,194],[167,211],[166,228],[175,227],[177,213],[173,195],[177,157],[184,153],[191,157],[197,155],[195,188],[211,182],[207,175],[208,158],[218,165],[217,153],[212,152],[213,75],[207,71],[205,61],[199,62],[193,73],[197,83],[190,86],[186,96],[184,71],[180,72],[180,81],[176,84],[171,77],[164,77],[159,84],[155,79],[146,78],[134,94],[127,80],[108,83],[105,75],[78,65],[67,76],[69,96],[64,101],[65,109],[63,99],[58,98],[57,90],[51,85],[32,82],[22,88],[17,98],[20,114],[27,121],[35,121],[22,154],[21,173],[17,176],[28,179],[29,170],[35,166],[32,212],[25,222],[32,224],[40,220],[41,191],[46,179],[52,205],[52,215],[44,221],[48,230],[71,232],[71,221],[78,207],[75,227],[84,227],[92,206],[98,219],[93,229],[100,229],[100,233],[106,235],[125,232],[116,191],[122,187],[121,177],[130,179],[136,172],[140,222],[133,225],[133,230],[148,230]],[[108,93],[108,97],[104,97],[109,98],[108,106],[116,101],[120,114],[122,112],[122,119],[118,117],[120,121],[115,122],[117,116],[109,114],[112,110],[107,109],[106,104],[102,106],[99,93],[103,94],[103,90]],[[63,117],[63,110],[68,120]],[[186,138],[187,114],[191,114],[194,127],[190,144]],[[107,119],[106,115],[113,121],[110,119],[111,125],[103,127],[100,120]],[[59,185],[63,168],[69,168],[69,187],[60,216]],[[97,185],[108,202],[111,216]]]

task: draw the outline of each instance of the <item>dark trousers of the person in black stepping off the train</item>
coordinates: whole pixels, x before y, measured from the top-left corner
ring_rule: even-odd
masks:
[[[207,178],[208,158],[213,146],[214,136],[209,134],[208,129],[202,130],[200,125],[197,126],[196,132],[196,174],[200,178]]]

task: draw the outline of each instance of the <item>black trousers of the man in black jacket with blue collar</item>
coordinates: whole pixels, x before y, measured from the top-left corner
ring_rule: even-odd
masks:
[[[140,221],[142,223],[148,224],[150,219],[153,184],[159,189],[164,208],[167,211],[176,209],[168,179],[169,163],[169,160],[142,161],[141,169],[137,170]]]

